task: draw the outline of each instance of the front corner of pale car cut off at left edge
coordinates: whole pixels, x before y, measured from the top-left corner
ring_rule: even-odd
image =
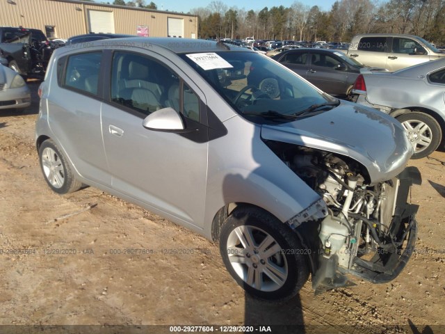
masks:
[[[17,72],[3,65],[5,61],[0,58],[0,110],[27,108],[31,105],[31,92]]]

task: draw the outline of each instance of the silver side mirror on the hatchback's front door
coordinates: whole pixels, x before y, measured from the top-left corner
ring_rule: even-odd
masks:
[[[159,109],[150,113],[142,123],[143,127],[154,131],[163,132],[184,132],[184,122],[175,111],[170,107]]]

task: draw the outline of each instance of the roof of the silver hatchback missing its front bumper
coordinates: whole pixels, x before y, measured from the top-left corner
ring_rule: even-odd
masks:
[[[175,54],[229,50],[253,52],[250,49],[239,47],[237,45],[226,44],[224,42],[215,42],[212,40],[200,40],[195,38],[158,38],[133,36],[131,38],[117,38],[113,40],[95,40],[94,42],[91,42],[91,46],[101,45],[101,43],[102,45],[106,45],[109,43],[111,47],[113,47],[113,45],[118,47],[119,43],[122,43],[122,45],[129,45],[129,43],[131,43],[135,46],[141,45],[141,47],[150,47],[150,45],[156,45],[165,49],[169,49],[170,51],[175,52]]]

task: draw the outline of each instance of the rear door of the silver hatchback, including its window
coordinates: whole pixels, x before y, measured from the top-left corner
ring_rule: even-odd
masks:
[[[49,127],[82,177],[105,186],[108,173],[100,114],[102,112],[102,51],[59,58],[57,81],[48,100]],[[53,81],[56,81],[52,79]]]

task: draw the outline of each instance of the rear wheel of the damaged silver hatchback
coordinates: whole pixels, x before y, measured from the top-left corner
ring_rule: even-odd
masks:
[[[81,188],[82,183],[74,177],[67,158],[51,139],[40,145],[39,160],[44,180],[53,191],[63,194]]]

